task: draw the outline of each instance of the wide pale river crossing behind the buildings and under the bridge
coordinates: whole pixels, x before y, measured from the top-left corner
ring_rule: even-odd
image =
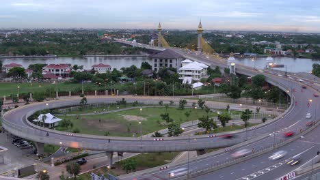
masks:
[[[265,67],[265,57],[254,58],[236,58],[237,63],[248,65],[263,69]],[[141,66],[142,62],[152,63],[148,57],[54,57],[54,58],[15,58],[15,59],[0,59],[2,64],[18,63],[27,68],[33,63],[70,63],[71,65],[83,65],[83,69],[90,70],[92,65],[98,63],[105,63],[111,65],[111,68],[130,67],[131,65]],[[288,72],[310,72],[313,63],[320,63],[320,60],[304,59],[304,58],[291,58],[291,57],[274,57],[276,64],[284,64],[284,68],[276,68],[276,70],[286,70]]]

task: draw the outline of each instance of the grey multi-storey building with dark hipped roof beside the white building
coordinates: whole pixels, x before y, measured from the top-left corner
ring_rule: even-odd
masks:
[[[178,68],[181,67],[181,61],[183,56],[174,52],[174,50],[166,49],[155,55],[151,55],[152,70],[159,72],[163,67],[174,67],[178,72]]]

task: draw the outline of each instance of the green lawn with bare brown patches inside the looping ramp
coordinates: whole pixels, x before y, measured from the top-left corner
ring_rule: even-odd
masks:
[[[189,111],[190,115],[187,118],[185,112]],[[88,115],[77,117],[59,117],[61,119],[70,119],[73,123],[72,129],[79,129],[81,134],[104,135],[109,132],[110,136],[132,136],[136,133],[139,136],[139,121],[142,122],[142,133],[148,134],[157,130],[163,130],[167,127],[165,121],[160,117],[165,113],[165,108],[150,107],[138,109],[124,110],[121,112],[112,112],[105,115]],[[185,121],[196,120],[204,115],[206,112],[200,109],[186,108],[185,110],[178,110],[178,108],[168,108],[168,113],[176,123],[183,123]],[[209,112],[209,117],[215,117],[217,113]],[[99,119],[101,122],[99,122]],[[64,127],[57,127],[56,130],[66,130]]]

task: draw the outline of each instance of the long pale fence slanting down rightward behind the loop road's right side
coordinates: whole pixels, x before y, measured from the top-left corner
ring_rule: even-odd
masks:
[[[215,102],[230,102],[234,104],[252,104],[256,106],[265,106],[271,108],[289,108],[290,104],[279,104],[274,102],[267,102],[267,100],[252,100],[249,98],[239,98],[239,99],[232,99],[229,97],[215,97],[212,95],[199,95],[199,99],[202,100],[213,100]]]

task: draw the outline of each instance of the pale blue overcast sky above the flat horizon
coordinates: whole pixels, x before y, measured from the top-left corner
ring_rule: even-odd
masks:
[[[320,32],[319,0],[1,0],[0,28]]]

